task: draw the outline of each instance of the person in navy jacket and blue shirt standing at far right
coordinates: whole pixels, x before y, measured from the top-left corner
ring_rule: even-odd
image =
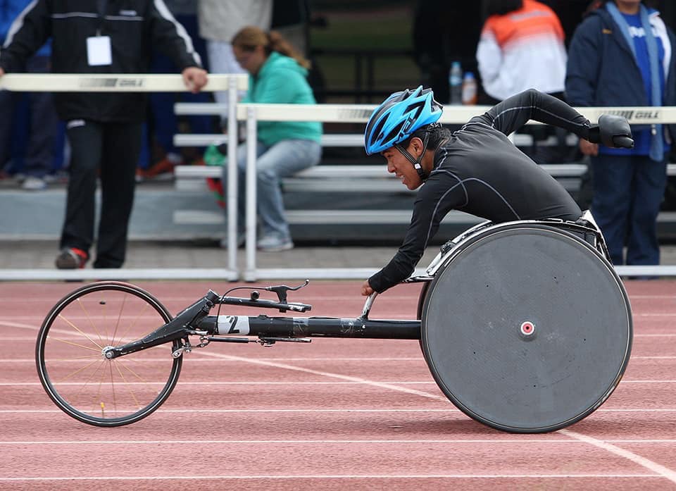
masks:
[[[675,37],[640,0],[597,1],[570,42],[565,80],[572,106],[674,106]],[[580,140],[591,156],[592,212],[615,264],[660,262],[657,215],[674,125],[632,127],[633,149]],[[627,246],[626,261],[623,247]]]

